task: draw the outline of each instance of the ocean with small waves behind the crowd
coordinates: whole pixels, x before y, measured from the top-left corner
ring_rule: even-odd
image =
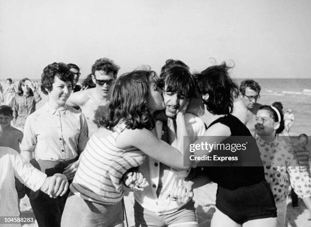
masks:
[[[79,82],[82,82],[82,78]],[[244,79],[234,79],[239,85]],[[273,102],[282,102],[284,111],[291,108],[295,121],[292,125],[290,134],[298,135],[306,133],[311,136],[311,79],[255,79],[261,86],[260,99],[261,104],[271,105]],[[5,80],[0,83],[6,88]],[[18,80],[15,80],[18,83]],[[44,95],[43,95],[44,96]],[[45,99],[43,99],[45,100]],[[43,101],[41,101],[43,102]],[[42,103],[38,103],[41,106]]]

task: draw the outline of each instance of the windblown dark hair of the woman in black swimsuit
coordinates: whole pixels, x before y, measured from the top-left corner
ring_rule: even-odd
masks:
[[[233,95],[238,93],[238,87],[228,74],[226,63],[210,66],[194,75],[201,95],[208,94],[207,100],[202,100],[209,112],[214,115],[226,115],[232,112]]]

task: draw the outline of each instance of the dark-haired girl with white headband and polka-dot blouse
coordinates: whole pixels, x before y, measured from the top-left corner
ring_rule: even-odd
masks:
[[[299,197],[310,196],[311,191],[303,173],[299,169],[293,147],[278,136],[284,130],[282,110],[274,106],[263,105],[256,115],[256,140],[265,169],[265,177],[269,183],[277,208],[277,226],[284,227],[286,221],[286,198],[288,187]]]

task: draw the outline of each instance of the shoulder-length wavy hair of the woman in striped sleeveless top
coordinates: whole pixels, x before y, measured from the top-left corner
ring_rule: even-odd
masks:
[[[101,125],[109,130],[124,122],[128,129],[151,130],[155,124],[147,107],[150,80],[158,75],[150,69],[134,70],[118,77],[112,91],[109,113]]]

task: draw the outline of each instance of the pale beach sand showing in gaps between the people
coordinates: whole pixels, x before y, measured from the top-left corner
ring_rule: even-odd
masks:
[[[37,109],[45,104],[47,100],[47,96],[41,94],[42,101],[40,101],[37,105]],[[310,143],[311,144],[311,143]],[[210,220],[215,211],[215,194],[216,194],[217,185],[215,183],[210,183],[200,188],[194,189],[194,201],[197,209],[197,216],[199,226],[209,227]],[[125,196],[125,205],[129,226],[134,226],[134,196],[133,192],[128,192],[128,195]],[[25,196],[21,200],[21,217],[33,217],[35,219],[35,215],[30,207],[28,197]],[[292,208],[291,199],[288,199],[287,206],[287,222],[288,227],[302,227],[308,219],[309,213],[306,209],[302,200],[299,199],[299,206],[296,208]],[[37,227],[38,224],[35,220],[34,223],[23,224],[24,227]],[[127,226],[125,221],[125,226]]]

